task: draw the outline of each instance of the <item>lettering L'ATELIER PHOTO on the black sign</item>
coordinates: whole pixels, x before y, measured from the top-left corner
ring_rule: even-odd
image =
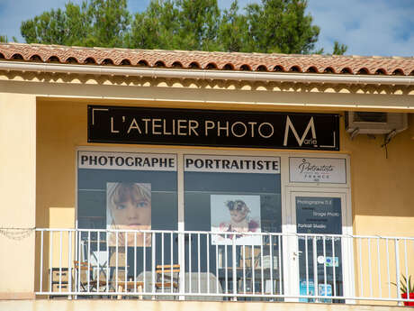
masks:
[[[212,120],[132,118],[127,123],[127,134],[140,135],[178,135],[178,136],[223,136],[223,137],[257,137],[269,138],[275,133],[274,125],[263,122],[220,122]],[[122,128],[125,128],[122,125]],[[120,133],[121,126],[111,117],[111,133]]]

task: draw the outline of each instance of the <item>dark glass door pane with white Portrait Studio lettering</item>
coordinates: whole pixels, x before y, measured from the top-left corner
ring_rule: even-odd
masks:
[[[340,197],[296,197],[295,202],[297,233],[317,234],[299,236],[300,294],[343,295],[341,238],[325,235],[342,234]]]

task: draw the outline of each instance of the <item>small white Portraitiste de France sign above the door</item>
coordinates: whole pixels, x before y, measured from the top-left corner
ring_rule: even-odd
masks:
[[[347,183],[345,159],[289,158],[291,182]]]

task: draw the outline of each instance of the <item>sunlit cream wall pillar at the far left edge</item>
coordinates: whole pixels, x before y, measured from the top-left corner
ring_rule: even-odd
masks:
[[[0,299],[32,297],[36,98],[0,93]],[[8,229],[4,229],[8,228]],[[23,228],[10,230],[10,228]]]

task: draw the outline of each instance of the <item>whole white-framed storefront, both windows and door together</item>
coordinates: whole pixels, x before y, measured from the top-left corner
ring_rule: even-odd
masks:
[[[352,258],[338,237],[352,233],[347,157],[235,153],[79,149],[76,226],[109,230],[84,256],[122,262],[125,279],[179,264],[185,292],[343,296]],[[294,170],[314,159],[312,176]]]

